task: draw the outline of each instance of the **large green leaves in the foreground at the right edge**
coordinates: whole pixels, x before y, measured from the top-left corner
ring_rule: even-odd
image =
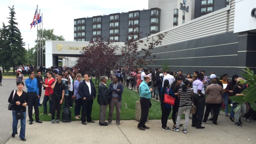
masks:
[[[243,71],[245,71],[245,73],[241,73],[242,76],[244,76],[244,78],[246,80],[242,80],[240,81],[240,83],[243,84],[248,84],[249,87],[247,87],[242,94],[244,94],[245,96],[233,96],[233,97],[229,97],[232,101],[237,102],[239,104],[237,104],[237,107],[234,109],[234,111],[236,112],[242,104],[244,104],[245,102],[249,102],[251,104],[251,109],[254,109],[254,111],[256,111],[256,74],[254,75],[254,71],[250,70],[249,68],[246,67],[245,69],[242,69]]]

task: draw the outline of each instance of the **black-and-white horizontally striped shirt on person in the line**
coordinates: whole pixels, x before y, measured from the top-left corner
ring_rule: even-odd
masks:
[[[186,92],[183,92],[182,88],[179,89],[178,96],[180,97],[180,107],[192,106],[191,95],[192,91],[190,88],[187,88]]]

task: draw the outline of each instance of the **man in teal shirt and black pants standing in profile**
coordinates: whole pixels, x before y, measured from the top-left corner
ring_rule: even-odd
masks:
[[[149,114],[149,107],[150,107],[150,98],[152,88],[149,88],[148,83],[150,82],[150,76],[145,76],[143,81],[140,84],[139,92],[140,92],[140,106],[141,106],[141,116],[140,116],[140,123],[138,124],[138,128],[140,130],[149,129],[145,125],[147,121],[147,116]]]

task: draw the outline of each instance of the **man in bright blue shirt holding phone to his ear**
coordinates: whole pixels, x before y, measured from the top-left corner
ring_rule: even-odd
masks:
[[[33,70],[29,70],[28,71],[28,76],[29,78],[25,80],[25,84],[27,87],[27,91],[28,91],[28,118],[29,118],[29,124],[32,125],[33,124],[33,106],[35,109],[35,115],[36,115],[36,122],[37,123],[43,123],[40,119],[39,119],[39,109],[38,109],[38,99],[39,97],[39,89],[38,89],[38,83],[37,83],[37,79],[35,78],[35,73]]]

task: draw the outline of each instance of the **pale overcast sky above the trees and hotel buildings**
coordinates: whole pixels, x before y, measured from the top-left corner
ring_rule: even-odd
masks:
[[[28,49],[28,44],[30,48],[36,44],[37,26],[30,31],[36,5],[43,13],[43,28],[54,29],[55,35],[73,41],[74,19],[148,9],[148,0],[0,0],[0,28],[2,23],[8,25],[8,7],[13,5],[17,27],[26,44],[24,47]]]

